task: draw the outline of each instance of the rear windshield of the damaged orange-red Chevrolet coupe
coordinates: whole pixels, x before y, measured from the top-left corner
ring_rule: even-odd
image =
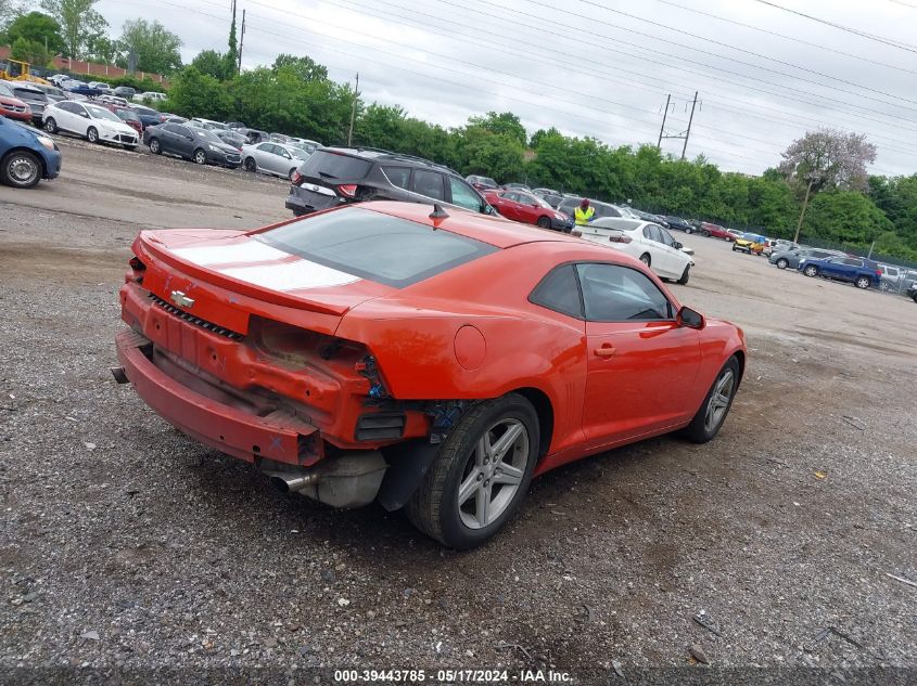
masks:
[[[359,207],[302,219],[256,237],[285,253],[395,288],[499,249]]]

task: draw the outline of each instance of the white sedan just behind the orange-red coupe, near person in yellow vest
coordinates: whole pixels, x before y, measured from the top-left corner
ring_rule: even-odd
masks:
[[[693,259],[665,229],[650,221],[603,217],[576,226],[586,241],[606,245],[641,260],[663,279],[688,283]]]

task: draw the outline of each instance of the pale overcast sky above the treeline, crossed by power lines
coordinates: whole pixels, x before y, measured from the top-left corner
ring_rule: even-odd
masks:
[[[878,40],[761,0],[238,3],[240,23],[247,11],[243,68],[280,52],[308,55],[337,81],[359,72],[365,101],[447,127],[511,111],[530,134],[553,126],[636,146],[657,142],[670,93],[665,132],[682,134],[698,91],[688,157],[760,174],[793,139],[830,126],[868,134],[874,173],[917,171],[917,0],[768,1]],[[226,50],[230,4],[97,7],[113,34],[128,18],[161,21],[189,62]],[[662,145],[680,155],[683,141]]]

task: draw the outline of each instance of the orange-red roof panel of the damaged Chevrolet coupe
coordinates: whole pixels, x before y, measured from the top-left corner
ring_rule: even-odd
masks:
[[[459,208],[454,209],[451,206],[445,208],[448,217],[441,220],[430,218],[433,211],[432,204],[375,200],[360,203],[360,207],[457,233],[498,248],[509,248],[514,245],[538,242],[573,243],[576,245],[587,243],[558,231],[538,229],[531,224],[521,224],[504,219],[502,217],[492,217]]]

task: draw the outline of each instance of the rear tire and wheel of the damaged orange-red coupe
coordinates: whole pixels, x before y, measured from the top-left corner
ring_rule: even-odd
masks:
[[[440,448],[406,512],[457,549],[481,545],[519,509],[538,456],[538,416],[510,393],[474,405]]]

